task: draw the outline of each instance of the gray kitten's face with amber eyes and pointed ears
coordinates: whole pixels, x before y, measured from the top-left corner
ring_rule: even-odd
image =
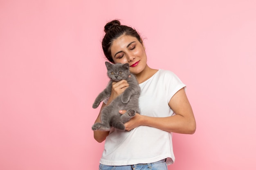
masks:
[[[105,63],[108,69],[108,77],[114,82],[119,82],[121,79],[127,79],[130,75],[129,64],[111,64]]]

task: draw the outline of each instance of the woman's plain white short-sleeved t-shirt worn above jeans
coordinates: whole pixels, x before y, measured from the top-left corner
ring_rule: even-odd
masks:
[[[168,102],[177,91],[186,88],[173,72],[161,69],[139,86],[140,114],[150,117],[175,115]],[[167,165],[175,161],[172,133],[150,126],[138,126],[130,131],[112,128],[106,138],[100,163],[124,166],[152,163],[165,158]]]

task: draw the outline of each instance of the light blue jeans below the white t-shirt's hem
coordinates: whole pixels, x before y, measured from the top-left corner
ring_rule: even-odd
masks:
[[[154,163],[139,163],[126,166],[108,166],[99,164],[99,170],[168,170],[165,159]]]

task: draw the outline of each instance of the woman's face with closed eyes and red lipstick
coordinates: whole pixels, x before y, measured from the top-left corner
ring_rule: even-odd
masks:
[[[130,72],[135,75],[146,67],[147,56],[144,46],[135,37],[121,35],[113,41],[110,50],[114,62],[129,63]]]

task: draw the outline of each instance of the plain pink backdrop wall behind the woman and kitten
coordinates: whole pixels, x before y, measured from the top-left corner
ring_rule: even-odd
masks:
[[[255,0],[0,0],[0,169],[97,170],[92,103],[115,18],[187,85],[197,130],[173,135],[169,169],[255,170]]]

